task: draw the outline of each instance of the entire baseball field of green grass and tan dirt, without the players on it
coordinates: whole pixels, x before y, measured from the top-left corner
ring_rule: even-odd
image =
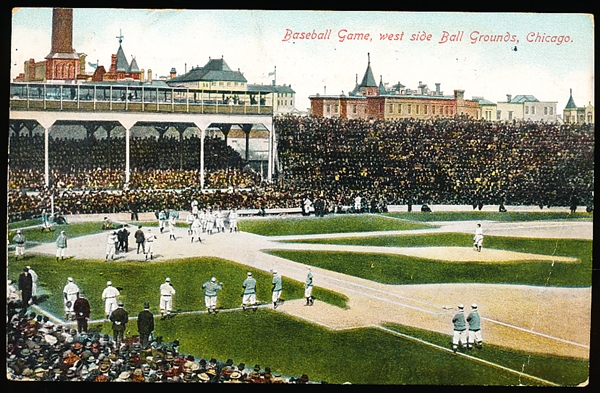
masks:
[[[511,209],[509,209],[511,210]],[[103,319],[107,281],[120,289],[134,317],[151,304],[155,336],[178,340],[179,352],[269,366],[274,373],[307,374],[311,381],[382,385],[577,386],[590,374],[593,213],[439,211],[342,214],[325,217],[245,217],[240,232],[204,233],[190,242],[187,225],[176,240],[150,215],[128,221],[157,233],[154,257],[135,250],[105,260],[107,231],[98,217],[67,217],[41,232],[22,228],[25,257],[8,249],[8,278],[24,266],[39,276],[31,311],[62,318],[67,277],[92,308],[90,329],[112,334]],[[472,246],[484,229],[481,252]],[[54,240],[69,238],[64,260]],[[307,267],[314,275],[313,306],[305,306]],[[272,270],[283,276],[283,304],[270,303]],[[242,281],[252,272],[263,305],[242,310]],[[205,312],[202,283],[223,282],[217,315]],[[159,286],[171,278],[175,315],[161,319]],[[476,303],[482,348],[451,348],[457,304]]]

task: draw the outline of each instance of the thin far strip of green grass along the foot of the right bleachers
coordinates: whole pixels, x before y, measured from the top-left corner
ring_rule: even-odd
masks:
[[[540,210],[539,212],[486,212],[486,211],[466,211],[466,212],[394,212],[384,215],[394,218],[400,218],[416,222],[430,221],[499,221],[499,222],[519,222],[519,221],[549,221],[549,220],[569,220],[569,221],[593,221],[594,214],[578,212],[569,214],[569,209],[564,212],[549,212]]]

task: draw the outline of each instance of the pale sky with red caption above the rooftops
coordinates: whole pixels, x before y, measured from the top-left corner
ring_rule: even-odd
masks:
[[[221,57],[248,83],[271,84],[275,71],[301,111],[311,95],[350,92],[370,59],[390,86],[440,83],[445,95],[492,102],[527,94],[562,113],[570,89],[577,106],[595,105],[594,27],[578,13],[75,8],[73,48],[108,68],[122,35],[125,55],[154,78]],[[51,8],[13,9],[11,81],[44,59],[51,36]]]

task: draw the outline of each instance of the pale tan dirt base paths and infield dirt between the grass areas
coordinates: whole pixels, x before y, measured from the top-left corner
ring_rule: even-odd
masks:
[[[555,222],[519,223],[512,229],[496,226],[498,232],[510,231],[510,236],[569,237],[564,225]],[[562,223],[560,223],[562,224]],[[587,225],[589,224],[589,225]],[[485,224],[493,230],[493,225]],[[592,223],[576,223],[577,232],[583,238],[591,236]],[[437,231],[471,232],[473,223],[452,223]],[[281,243],[281,238],[266,238],[250,233],[203,234],[202,243],[190,243],[184,228],[176,228],[177,240],[169,240],[167,232],[160,234],[154,247],[156,261],[194,256],[215,256],[252,266],[262,270],[277,269],[283,276],[304,282],[306,265],[268,255],[268,249],[329,249],[352,252],[388,252],[435,259],[459,260],[463,262],[510,263],[534,259],[553,262],[575,262],[572,259],[515,253],[502,250],[483,249],[481,253],[470,247],[356,247],[318,244]],[[430,230],[428,230],[430,231]],[[389,233],[387,233],[389,234]],[[67,233],[68,235],[68,233]],[[107,233],[74,238],[69,241],[67,255],[77,258],[104,259]],[[348,236],[373,236],[372,233],[343,234]],[[342,235],[338,235],[342,236]],[[315,237],[319,237],[316,235]],[[322,236],[320,236],[322,237]],[[331,237],[331,236],[330,236]],[[292,237],[286,237],[290,239]],[[298,238],[298,237],[295,237]],[[131,236],[133,239],[133,236]],[[137,254],[130,240],[130,251],[117,256],[119,260],[144,261],[144,254]],[[54,254],[52,243],[32,248],[29,252]],[[339,292],[348,297],[348,308],[341,309],[326,303],[315,302],[304,306],[303,300],[287,301],[277,311],[319,324],[330,329],[354,329],[398,323],[440,333],[452,332],[451,319],[456,305],[465,304],[469,311],[477,303],[482,316],[482,331],[485,343],[501,345],[526,353],[550,354],[581,359],[589,358],[591,332],[591,288],[554,288],[521,285],[492,284],[427,284],[385,285],[373,281],[340,274],[316,267],[311,268],[315,286]],[[282,297],[285,299],[285,288]],[[568,315],[568,317],[564,317]],[[563,316],[563,318],[558,318]]]

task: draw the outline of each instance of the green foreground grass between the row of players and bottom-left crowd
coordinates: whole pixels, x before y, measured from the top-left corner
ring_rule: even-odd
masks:
[[[401,325],[387,328],[450,348],[450,334],[432,333]],[[109,323],[95,326],[110,334]],[[289,334],[293,332],[293,334]],[[126,334],[136,335],[135,321]],[[180,353],[198,358],[233,359],[247,367],[259,364],[274,373],[312,381],[341,384],[385,385],[488,385],[541,386],[543,382],[520,377],[451,352],[426,346],[381,329],[331,331],[268,309],[256,313],[177,315],[156,320],[155,336],[180,342]],[[473,356],[563,386],[587,377],[587,361],[529,355],[486,345]],[[526,366],[523,369],[523,366]]]

